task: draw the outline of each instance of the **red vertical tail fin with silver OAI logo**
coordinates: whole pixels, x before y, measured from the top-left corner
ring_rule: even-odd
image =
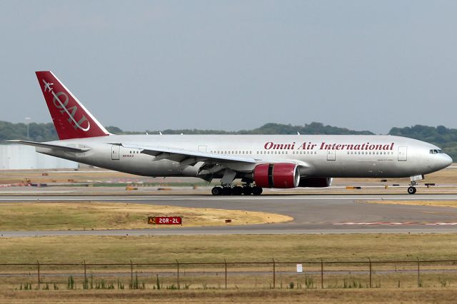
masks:
[[[51,71],[36,72],[36,77],[60,139],[109,135]]]

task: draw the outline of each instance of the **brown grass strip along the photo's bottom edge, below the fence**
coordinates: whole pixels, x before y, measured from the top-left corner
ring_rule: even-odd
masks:
[[[450,288],[361,290],[31,290],[0,303],[455,303]]]

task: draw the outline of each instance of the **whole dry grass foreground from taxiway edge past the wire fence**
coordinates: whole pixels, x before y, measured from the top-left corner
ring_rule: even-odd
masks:
[[[320,265],[303,264],[306,274],[294,272],[296,262],[317,262],[320,258],[324,261],[368,261],[368,257],[375,261],[456,259],[457,234],[74,236],[0,238],[0,242],[0,263],[36,263],[36,260],[80,263],[78,266],[42,265],[40,290],[35,290],[38,288],[36,266],[1,266],[0,303],[9,303],[12,299],[18,303],[119,303],[151,299],[164,303],[360,303],[361,299],[364,303],[452,303],[457,293],[457,275],[451,271],[456,268],[453,263],[422,263],[423,288],[417,288],[416,263],[373,265],[373,288],[368,288],[368,263],[326,264],[323,290],[320,289]],[[271,290],[272,258],[276,263],[288,262],[276,265],[276,290]],[[224,289],[224,264],[182,264],[224,262],[224,259],[270,264],[229,265],[228,290]],[[139,284],[144,283],[145,290],[129,289],[129,265],[91,265],[88,273],[96,274],[94,285],[104,282],[114,285],[114,289],[83,290],[82,260],[86,263],[129,263],[130,260],[176,263],[179,260],[181,288],[186,285],[190,288],[173,289],[177,285],[176,264],[135,266],[134,273],[139,273]],[[437,268],[441,269],[440,273],[427,273]],[[383,273],[386,270],[389,272]],[[77,275],[76,290],[67,288],[71,274]],[[154,290],[156,276],[160,276],[165,290]],[[19,290],[28,282],[32,290]],[[116,288],[119,282],[126,286],[124,290]],[[51,290],[42,290],[45,283]],[[59,290],[52,290],[54,284]]]

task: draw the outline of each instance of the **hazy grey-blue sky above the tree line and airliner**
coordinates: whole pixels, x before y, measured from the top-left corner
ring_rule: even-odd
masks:
[[[0,120],[51,70],[105,126],[457,128],[457,1],[0,1]]]

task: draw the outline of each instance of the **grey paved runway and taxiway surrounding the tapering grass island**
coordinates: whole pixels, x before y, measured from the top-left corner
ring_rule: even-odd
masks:
[[[455,233],[457,208],[363,203],[389,200],[457,201],[455,194],[280,196],[1,196],[1,203],[104,201],[161,206],[263,211],[291,216],[289,223],[136,230],[0,231],[3,237],[44,235],[214,235],[306,233]],[[1,209],[0,209],[1,210]]]

